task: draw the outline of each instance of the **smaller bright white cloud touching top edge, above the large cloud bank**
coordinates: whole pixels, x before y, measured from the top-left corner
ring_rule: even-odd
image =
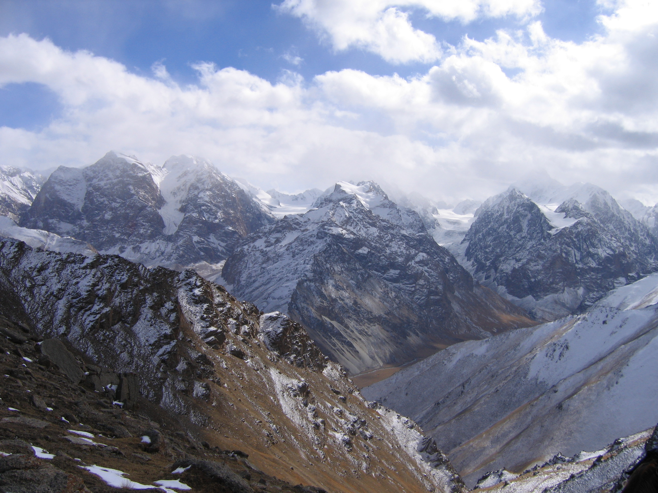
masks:
[[[400,8],[461,22],[528,17],[542,10],[539,0],[285,0],[278,5],[280,11],[302,18],[337,51],[365,49],[394,64],[438,60],[442,51],[436,38],[415,29]]]

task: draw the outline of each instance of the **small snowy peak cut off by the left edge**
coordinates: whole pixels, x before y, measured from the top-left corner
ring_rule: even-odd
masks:
[[[45,180],[46,177],[38,173],[0,166],[0,216],[17,221],[30,208]]]

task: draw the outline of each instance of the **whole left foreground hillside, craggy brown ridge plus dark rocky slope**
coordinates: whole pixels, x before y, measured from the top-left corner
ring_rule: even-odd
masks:
[[[59,254],[8,240],[0,242],[0,295],[3,335],[13,338],[2,342],[10,353],[3,364],[11,384],[3,387],[1,397],[9,404],[0,415],[47,423],[30,431],[31,425],[5,421],[7,439],[18,436],[51,453],[62,450],[89,466],[130,473],[141,484],[173,478],[174,465],[182,464],[176,461],[188,455],[234,462],[219,451],[240,450],[229,467],[238,475],[246,471],[253,490],[261,488],[261,479],[272,490],[286,483],[329,492],[463,490],[434,442],[413,421],[369,407],[303,327],[238,302],[192,271],[148,270],[118,256]],[[45,339],[42,353],[54,339],[74,354],[77,363],[55,363],[66,377],[51,373],[40,359],[34,346],[39,339]],[[70,385],[64,385],[66,378]],[[34,408],[29,394],[53,410]],[[60,427],[61,416],[69,421],[66,429],[87,431],[94,437],[86,438],[116,447],[125,458],[86,442],[69,445],[70,438],[62,437],[75,433]],[[89,429],[74,427],[76,421]],[[118,436],[117,430],[125,433],[117,425],[133,436]],[[21,428],[29,433],[19,434]],[[143,450],[144,429],[160,431],[164,451],[154,456]],[[153,436],[149,440],[157,441]],[[244,454],[249,466],[241,460]],[[58,457],[53,467],[77,473],[89,489],[103,486],[87,482],[90,476],[76,469],[78,461]],[[31,470],[21,464],[12,470]],[[181,481],[200,491],[224,491],[203,489],[203,474],[215,473],[196,469]],[[197,473],[201,479],[194,479]]]

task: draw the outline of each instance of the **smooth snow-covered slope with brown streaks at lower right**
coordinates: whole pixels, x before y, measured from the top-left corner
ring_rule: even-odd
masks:
[[[655,425],[658,274],[586,314],[455,344],[364,388],[415,419],[465,477],[520,473]]]

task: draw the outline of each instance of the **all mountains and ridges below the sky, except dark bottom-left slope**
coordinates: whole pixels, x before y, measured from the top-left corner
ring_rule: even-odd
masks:
[[[590,479],[550,469],[563,452],[584,478],[580,452],[616,438],[608,476],[644,457],[655,207],[546,175],[457,206],[374,181],[288,194],[187,155],[0,172],[3,335],[138,375],[122,405],[247,449],[267,481],[457,493],[454,465],[569,490]]]

